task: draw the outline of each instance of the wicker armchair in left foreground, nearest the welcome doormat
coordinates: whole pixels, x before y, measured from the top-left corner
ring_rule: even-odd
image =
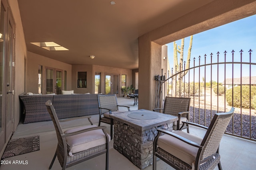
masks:
[[[52,118],[56,135],[58,138],[58,145],[49,169],[52,168],[56,156],[62,166],[62,170],[99,156],[106,154],[106,170],[108,170],[108,149],[109,149],[109,135],[105,132],[106,126],[97,127],[92,125],[90,116],[71,118],[66,120],[58,120],[52,102],[46,102],[47,110]],[[62,131],[60,122],[88,118],[91,125],[85,127],[78,127],[67,131]]]

